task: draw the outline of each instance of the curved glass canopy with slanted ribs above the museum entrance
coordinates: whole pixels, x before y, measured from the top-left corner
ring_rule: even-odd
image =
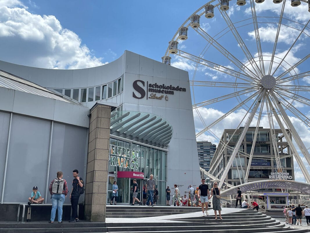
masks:
[[[147,112],[112,112],[110,125],[112,135],[160,148],[168,146],[173,134],[166,119]]]

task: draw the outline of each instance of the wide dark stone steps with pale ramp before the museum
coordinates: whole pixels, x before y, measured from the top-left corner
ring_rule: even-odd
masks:
[[[167,206],[111,206],[107,208],[107,222],[0,222],[0,233],[56,233],[56,232],[110,232],[110,233],[303,233],[308,229],[288,228],[278,220],[252,209],[232,213],[223,211],[223,220],[211,215],[203,217],[200,208]],[[183,213],[192,213],[179,215]],[[171,216],[175,214],[174,216]],[[157,217],[155,217],[157,216]],[[113,221],[113,217],[118,217]],[[130,218],[128,218],[130,217]],[[124,221],[119,218],[124,218]],[[133,219],[135,218],[135,219]],[[310,228],[309,228],[310,229]]]

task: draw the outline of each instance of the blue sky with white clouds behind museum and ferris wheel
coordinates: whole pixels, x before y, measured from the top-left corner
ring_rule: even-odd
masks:
[[[193,59],[200,57],[203,61],[213,62],[235,72],[240,71],[238,62],[241,62],[245,64],[247,72],[255,73],[255,67],[250,65],[246,53],[242,51],[244,47],[241,48],[240,41],[229,30],[217,7],[214,9],[215,16],[212,19],[201,16],[202,31],[195,31],[188,26],[188,18],[196,11],[200,14],[203,9],[200,11],[198,9],[204,4],[206,2],[201,0],[152,2],[0,0],[0,60],[41,68],[78,69],[112,62],[125,50],[129,50],[161,61],[161,57],[168,56],[166,50],[169,41],[177,39],[174,35],[179,27],[184,25],[188,27],[188,39],[178,40],[178,48],[184,51],[185,55],[181,57],[170,54],[171,65],[188,71],[190,80],[217,82],[213,83],[216,86],[213,88],[201,86],[192,88],[193,103],[201,103],[242,90],[242,88],[218,87],[218,82],[247,83],[247,85],[249,82],[218,71],[215,65],[211,67],[197,65],[196,62],[188,59],[189,57]],[[267,72],[275,44],[281,7],[282,4],[273,4],[268,0],[255,5],[262,56],[266,61],[263,66]],[[231,1],[230,9],[226,12],[250,55],[257,61],[259,53],[249,1],[242,7]],[[310,28],[307,24],[309,19],[310,12],[306,3],[302,2],[298,7],[291,7],[290,1],[286,2],[274,65],[271,69],[275,77],[309,54]],[[301,31],[303,33],[300,34]],[[216,40],[217,48],[210,46],[204,32]],[[233,58],[223,56],[220,51],[229,51]],[[283,62],[281,62],[282,59]],[[276,69],[280,62],[281,65]],[[284,77],[309,71],[308,64],[309,59],[301,62]],[[306,76],[294,81],[289,79],[284,84],[309,86],[309,83],[310,76]],[[195,109],[193,112],[196,133],[222,117],[232,107],[245,101],[253,93],[253,91],[248,92],[224,101],[215,100],[213,104]],[[309,117],[308,91],[299,90],[298,93],[293,93],[294,97],[296,94],[305,97],[303,103],[293,101],[287,92],[282,91],[279,94],[283,95],[282,101],[290,103],[288,105],[290,108],[297,109],[306,118]],[[249,116],[248,110],[254,102],[255,99],[250,98],[246,104],[242,104],[240,108],[213,126],[212,133],[220,137],[224,128],[236,128],[240,122],[244,123]],[[266,116],[266,107],[265,109],[262,107],[262,112]],[[297,117],[289,110],[286,112],[306,148],[310,148],[309,122],[304,124],[299,119],[300,115]],[[256,126],[257,119],[258,113],[251,126]],[[261,118],[260,126],[270,128],[269,124],[267,117]],[[275,127],[279,127],[276,121]],[[201,134],[197,139],[218,144],[210,132]],[[298,152],[300,152],[299,148]],[[308,165],[307,168],[309,169]],[[296,180],[303,180],[298,167],[295,167],[295,176]]]

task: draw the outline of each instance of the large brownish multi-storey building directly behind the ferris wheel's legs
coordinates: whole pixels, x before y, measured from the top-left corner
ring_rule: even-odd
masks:
[[[224,130],[219,146],[211,160],[209,172],[212,175],[218,178],[222,176],[224,168],[228,163],[229,157],[231,156],[239,135],[241,134],[241,130],[242,127],[236,131],[235,135],[233,135],[235,129]],[[272,132],[273,130],[259,127],[257,139],[253,148],[253,158],[250,162],[250,152],[253,145],[255,127],[250,127],[248,129],[239,148],[239,153],[237,153],[232,163],[232,167],[228,171],[226,183],[235,186],[246,181],[267,180],[272,178],[269,176],[272,176],[274,172],[288,173],[291,180],[294,180],[294,162],[290,146],[280,129],[274,130],[275,133]],[[288,130],[287,133],[289,137],[292,138]],[[272,136],[275,138],[274,142],[272,141]],[[224,146],[225,144],[227,144],[226,147]],[[276,162],[273,148],[276,148],[278,151],[280,158],[278,163]],[[247,175],[246,173],[249,166],[250,168]]]

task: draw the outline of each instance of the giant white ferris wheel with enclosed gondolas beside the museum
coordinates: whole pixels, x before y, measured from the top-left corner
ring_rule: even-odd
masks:
[[[296,129],[310,128],[309,21],[310,0],[212,0],[193,12],[169,42],[162,62],[189,73],[193,112],[200,119],[196,137],[218,139],[215,131],[224,130],[218,125],[239,116],[242,130],[220,183],[250,126],[256,128],[249,163],[258,128],[280,128],[310,183],[299,154],[308,165],[310,155]],[[277,145],[275,135],[271,140]],[[281,168],[277,149],[274,154]]]

